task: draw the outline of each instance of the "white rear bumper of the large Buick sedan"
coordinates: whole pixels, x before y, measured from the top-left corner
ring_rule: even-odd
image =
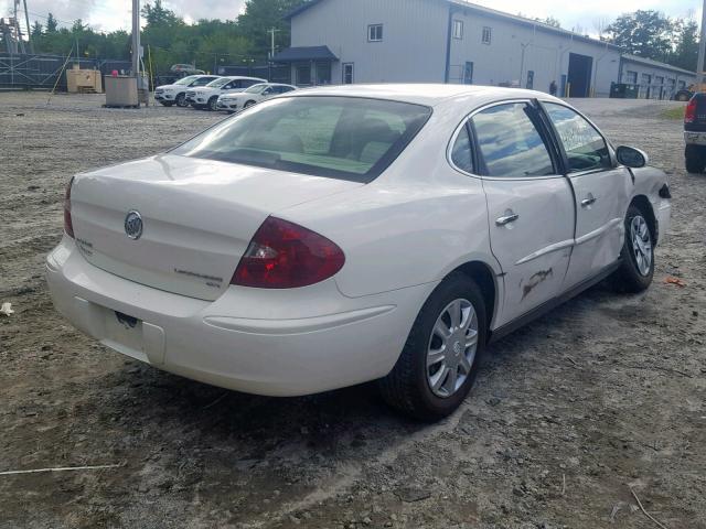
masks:
[[[231,288],[210,302],[105,272],[68,237],[46,269],[56,309],[107,347],[206,384],[278,397],[385,376],[436,287],[350,299],[329,280],[291,291]],[[138,324],[120,323],[116,311]]]

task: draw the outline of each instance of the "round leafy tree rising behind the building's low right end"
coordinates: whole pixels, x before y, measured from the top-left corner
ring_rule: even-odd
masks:
[[[673,52],[674,21],[659,11],[622,14],[606,33],[609,42],[642,57],[664,61]]]

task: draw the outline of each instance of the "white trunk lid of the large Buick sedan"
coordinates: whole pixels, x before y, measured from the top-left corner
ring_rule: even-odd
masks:
[[[159,155],[79,175],[77,247],[92,264],[182,295],[215,300],[271,214],[362,184],[226,162]],[[126,226],[141,218],[139,237]],[[136,215],[130,219],[135,222]]]

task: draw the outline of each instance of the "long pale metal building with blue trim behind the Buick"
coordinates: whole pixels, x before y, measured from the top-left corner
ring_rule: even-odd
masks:
[[[462,0],[311,0],[292,11],[291,47],[275,56],[300,86],[466,83],[607,97],[633,83],[667,98],[695,74],[612,44]],[[630,74],[628,74],[630,72]],[[665,87],[651,87],[663,80]],[[674,80],[674,86],[672,86]]]

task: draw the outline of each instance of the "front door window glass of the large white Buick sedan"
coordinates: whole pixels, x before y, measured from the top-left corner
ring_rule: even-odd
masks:
[[[549,102],[545,108],[564,144],[569,173],[612,168],[608,144],[591,123],[568,107]]]

